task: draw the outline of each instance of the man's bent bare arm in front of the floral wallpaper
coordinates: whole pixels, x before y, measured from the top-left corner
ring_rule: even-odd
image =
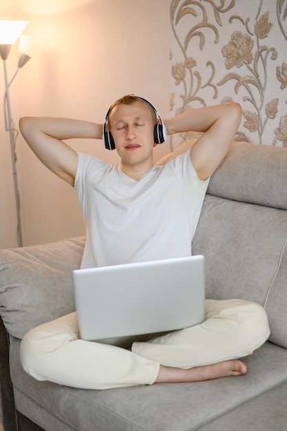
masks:
[[[237,103],[192,109],[165,120],[168,134],[204,132],[191,148],[191,161],[200,180],[206,180],[225,158],[242,118]]]

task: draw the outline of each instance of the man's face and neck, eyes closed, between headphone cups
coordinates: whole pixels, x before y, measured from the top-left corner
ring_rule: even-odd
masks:
[[[146,171],[153,166],[153,119],[149,107],[140,101],[116,105],[109,115],[109,126],[123,167]],[[125,169],[123,169],[125,171]]]

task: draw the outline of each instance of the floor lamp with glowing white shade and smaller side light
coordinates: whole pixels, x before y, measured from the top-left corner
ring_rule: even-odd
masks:
[[[22,240],[22,229],[21,229],[21,215],[20,215],[20,200],[19,200],[19,189],[17,181],[17,167],[16,167],[16,155],[15,155],[15,129],[12,126],[11,117],[11,104],[9,95],[9,86],[14,80],[20,67],[23,67],[25,63],[30,59],[29,56],[23,54],[18,63],[18,69],[14,74],[12,80],[8,81],[6,60],[8,58],[10,48],[15,41],[19,38],[23,30],[28,25],[28,21],[0,21],[0,56],[3,60],[4,66],[4,78],[5,78],[5,96],[4,96],[4,115],[5,115],[5,128],[6,132],[9,132],[10,136],[10,147],[12,155],[12,169],[14,178],[14,193],[16,199],[16,210],[17,210],[17,239],[19,247],[23,246]]]

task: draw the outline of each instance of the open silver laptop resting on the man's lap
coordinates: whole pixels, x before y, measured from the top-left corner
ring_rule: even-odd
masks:
[[[159,333],[204,320],[204,257],[195,255],[72,273],[80,337]]]

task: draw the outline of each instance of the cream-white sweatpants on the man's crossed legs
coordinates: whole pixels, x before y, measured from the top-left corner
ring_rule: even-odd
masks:
[[[23,368],[35,379],[108,389],[152,384],[160,364],[192,368],[250,355],[269,333],[258,304],[206,299],[206,320],[200,325],[100,343],[79,339],[76,313],[71,313],[30,330],[20,355]]]

